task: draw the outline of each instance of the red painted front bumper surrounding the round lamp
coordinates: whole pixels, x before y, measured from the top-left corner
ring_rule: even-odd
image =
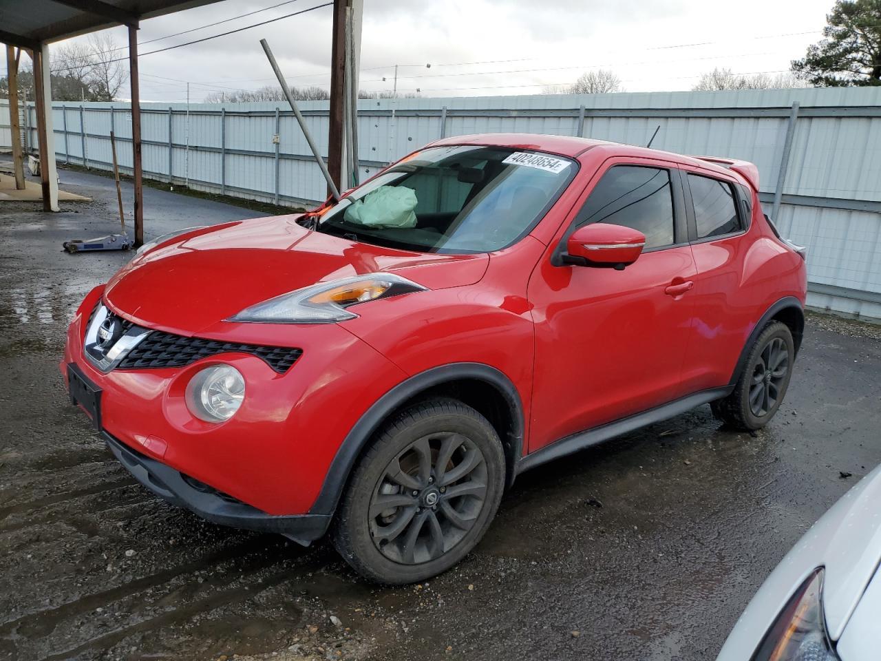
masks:
[[[83,349],[85,323],[100,294],[96,287],[78,309],[60,367],[67,380],[74,364],[100,390],[100,420],[93,417],[93,422],[101,432],[265,516],[333,514],[332,509],[314,507],[329,466],[366,407],[401,381],[400,369],[336,324],[292,328],[220,323],[205,337],[276,346],[293,344],[294,338],[304,353],[284,374],[256,355],[235,351],[180,368],[102,372]],[[231,420],[214,424],[189,412],[185,391],[200,369],[220,362],[245,376],[248,397]]]

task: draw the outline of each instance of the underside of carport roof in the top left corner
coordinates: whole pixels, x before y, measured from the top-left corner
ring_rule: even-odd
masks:
[[[218,0],[0,0],[0,41],[37,48],[78,34],[211,4]]]

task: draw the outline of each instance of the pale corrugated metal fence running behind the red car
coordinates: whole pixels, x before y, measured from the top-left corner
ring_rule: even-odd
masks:
[[[0,148],[9,146],[0,100]],[[144,175],[277,204],[324,197],[290,110],[248,103],[143,107]],[[327,103],[303,102],[327,151]],[[33,148],[33,107],[23,113]],[[54,104],[56,156],[109,168],[115,130],[131,163],[127,104]],[[750,160],[766,212],[810,248],[811,305],[881,318],[881,89],[747,90],[359,101],[359,174],[438,137],[528,132],[596,137],[671,152]],[[127,167],[128,166],[128,167]],[[776,203],[776,204],[775,204]]]

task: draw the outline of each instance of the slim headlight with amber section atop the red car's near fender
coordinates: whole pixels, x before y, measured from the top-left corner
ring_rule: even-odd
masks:
[[[303,289],[283,293],[243,309],[233,316],[233,322],[266,323],[333,323],[353,319],[353,305],[366,301],[419,292],[426,287],[417,285],[394,273],[368,273],[363,276],[322,282]]]

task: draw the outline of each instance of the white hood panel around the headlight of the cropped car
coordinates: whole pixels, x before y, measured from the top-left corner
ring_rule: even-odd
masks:
[[[774,568],[752,598],[717,661],[743,659],[803,581],[825,568],[826,631],[837,641],[881,562],[881,466],[841,496]],[[751,654],[751,651],[750,651]]]

